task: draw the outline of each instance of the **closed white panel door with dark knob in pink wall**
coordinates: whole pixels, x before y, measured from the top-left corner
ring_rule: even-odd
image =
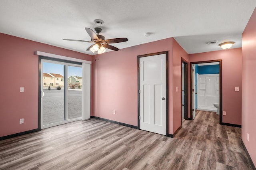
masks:
[[[166,135],[166,54],[139,62],[140,129]]]

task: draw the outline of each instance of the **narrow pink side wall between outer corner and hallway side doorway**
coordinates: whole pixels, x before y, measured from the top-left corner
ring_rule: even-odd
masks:
[[[181,126],[182,122],[182,80],[181,80],[181,65],[182,58],[188,61],[188,53],[173,39],[172,43],[172,89],[169,90],[173,93],[173,112],[170,112],[170,122],[173,123],[173,127],[170,127],[170,134],[176,132],[176,130]],[[182,58],[181,58],[182,57]],[[176,92],[176,87],[178,87],[178,92]]]

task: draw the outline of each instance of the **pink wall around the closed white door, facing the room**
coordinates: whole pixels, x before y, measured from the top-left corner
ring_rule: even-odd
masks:
[[[92,61],[94,82],[92,115],[138,126],[137,56],[168,51],[169,89],[172,89],[172,42],[173,38],[168,38],[96,55]],[[172,93],[172,90],[169,90],[170,128],[172,128]],[[113,110],[116,110],[115,115]]]

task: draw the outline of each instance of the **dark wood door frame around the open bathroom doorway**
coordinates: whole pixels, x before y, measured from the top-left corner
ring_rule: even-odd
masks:
[[[196,61],[190,63],[190,120],[192,120],[192,65],[199,63],[213,63],[220,62],[220,125],[222,125],[222,59],[209,60],[209,61]]]

